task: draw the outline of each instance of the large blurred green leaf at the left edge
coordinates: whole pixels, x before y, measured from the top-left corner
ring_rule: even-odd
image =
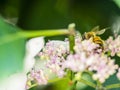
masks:
[[[9,41],[9,34],[15,35],[20,29],[11,25],[0,17],[0,79],[19,72],[23,67],[25,40],[18,39]],[[5,42],[4,41],[9,41]]]

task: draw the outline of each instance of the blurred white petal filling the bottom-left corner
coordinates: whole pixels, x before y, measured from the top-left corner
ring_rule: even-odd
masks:
[[[0,90],[25,90],[26,80],[25,73],[13,74],[0,82]]]

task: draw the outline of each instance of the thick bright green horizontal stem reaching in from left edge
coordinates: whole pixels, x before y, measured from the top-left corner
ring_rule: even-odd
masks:
[[[31,38],[38,36],[57,36],[57,35],[68,35],[69,31],[67,29],[59,30],[40,30],[40,31],[20,31],[17,33],[9,34],[0,37],[0,45],[9,43],[22,38]]]

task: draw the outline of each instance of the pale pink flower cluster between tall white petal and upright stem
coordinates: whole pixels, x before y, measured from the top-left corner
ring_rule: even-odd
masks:
[[[52,47],[52,48],[51,48]],[[46,67],[59,77],[64,75],[61,70],[62,62],[65,61],[65,57],[69,54],[68,41],[49,41],[43,48],[43,51],[39,53],[41,60],[48,60]]]

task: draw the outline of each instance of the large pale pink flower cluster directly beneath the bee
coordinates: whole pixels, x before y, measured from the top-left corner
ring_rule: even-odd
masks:
[[[116,72],[118,65],[110,57],[104,55],[98,47],[99,45],[91,40],[76,43],[74,47],[76,53],[68,55],[63,62],[63,67],[69,68],[73,72],[84,72],[85,70],[95,72],[93,79],[99,80],[101,83],[105,82],[110,75]]]

